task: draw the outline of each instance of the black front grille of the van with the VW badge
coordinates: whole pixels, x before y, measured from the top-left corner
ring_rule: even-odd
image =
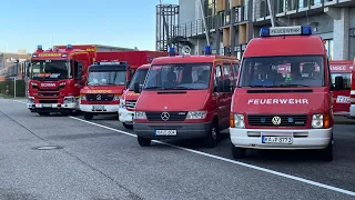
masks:
[[[277,124],[277,117],[281,122]],[[273,122],[273,118],[275,119]],[[255,127],[305,127],[307,124],[307,114],[248,114],[247,122]]]

